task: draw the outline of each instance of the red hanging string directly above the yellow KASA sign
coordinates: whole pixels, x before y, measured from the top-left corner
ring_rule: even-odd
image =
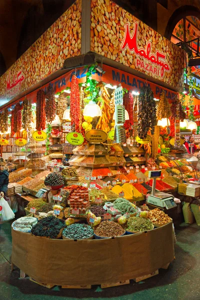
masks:
[[[45,93],[43,89],[37,91],[36,101],[36,129],[45,129],[46,115],[45,115]]]

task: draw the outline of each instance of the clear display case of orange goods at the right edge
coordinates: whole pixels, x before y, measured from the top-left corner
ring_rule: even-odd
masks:
[[[196,156],[184,153],[167,153],[157,158],[159,168],[165,169],[172,176],[185,179],[197,178],[196,166],[198,159]]]

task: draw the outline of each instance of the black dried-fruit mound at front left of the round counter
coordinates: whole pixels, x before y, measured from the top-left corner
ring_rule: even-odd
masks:
[[[39,220],[31,229],[33,235],[56,238],[61,228],[65,227],[63,220],[47,216]]]

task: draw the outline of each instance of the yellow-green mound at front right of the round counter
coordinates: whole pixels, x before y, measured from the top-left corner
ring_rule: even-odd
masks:
[[[126,230],[130,231],[146,231],[153,229],[153,224],[150,220],[142,217],[132,216],[127,220]]]

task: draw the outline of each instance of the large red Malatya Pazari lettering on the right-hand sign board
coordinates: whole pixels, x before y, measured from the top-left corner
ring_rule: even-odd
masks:
[[[144,71],[154,73],[157,76],[163,78],[164,72],[170,70],[169,64],[166,62],[166,55],[160,51],[151,53],[151,41],[148,41],[145,48],[138,48],[137,43],[137,30],[138,24],[134,23],[134,30],[132,36],[130,35],[129,24],[125,24],[125,34],[121,44],[121,49],[124,50],[126,47],[130,51],[134,51],[136,57],[136,66],[142,68]]]

